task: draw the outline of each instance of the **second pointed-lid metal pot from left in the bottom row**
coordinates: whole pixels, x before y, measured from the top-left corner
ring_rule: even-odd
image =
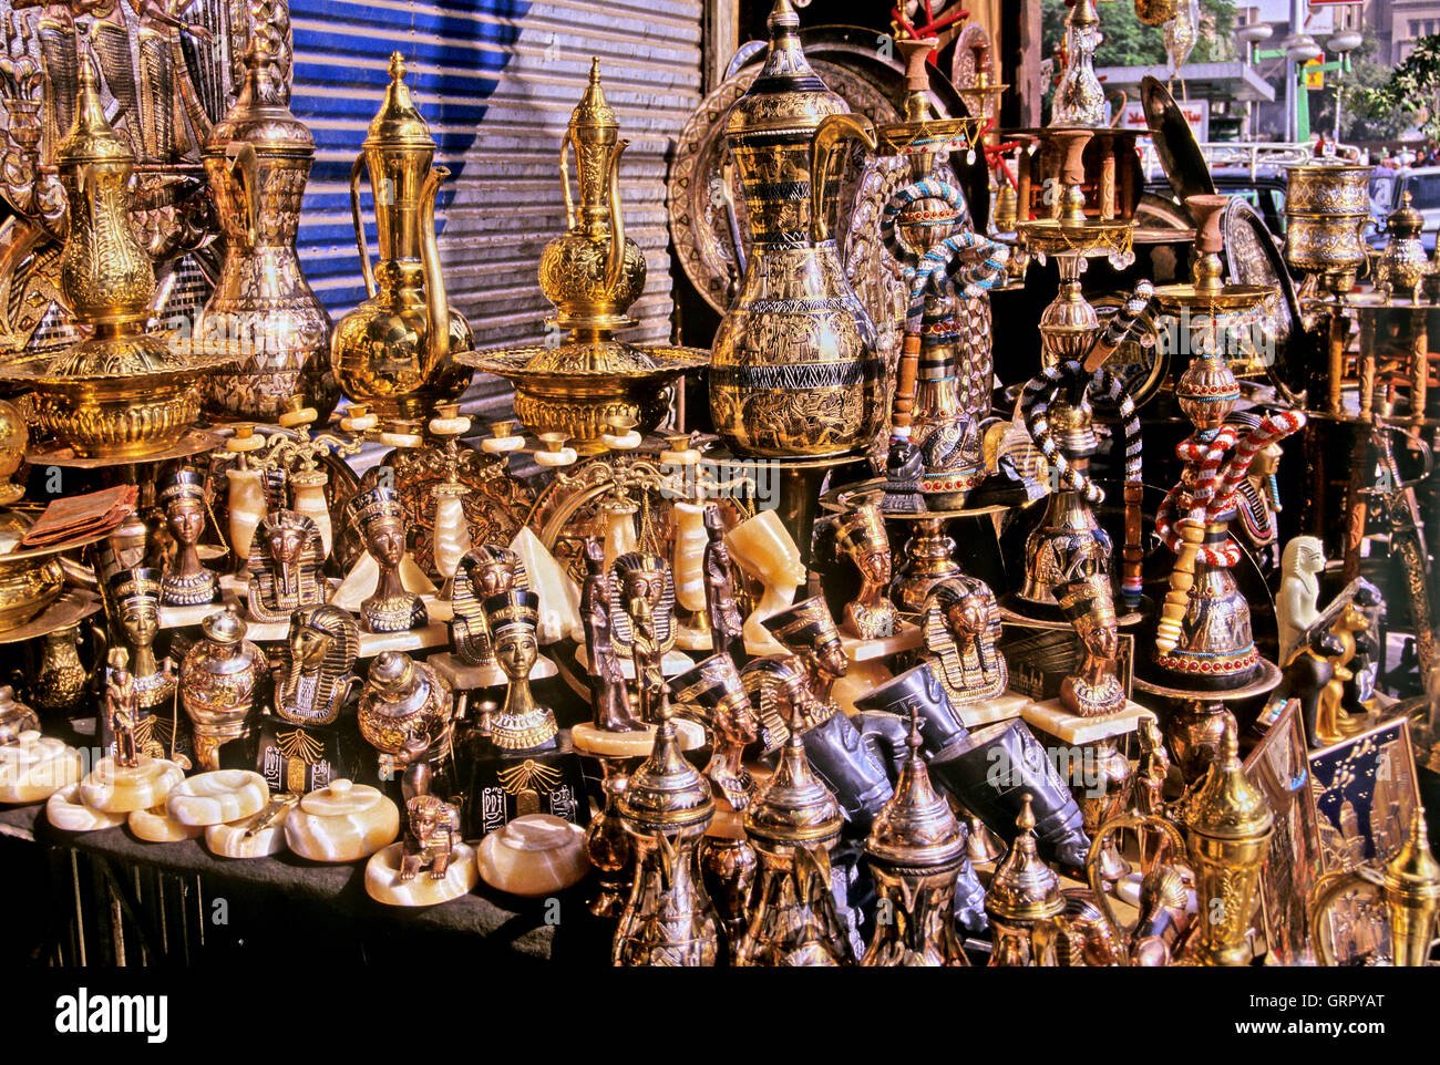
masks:
[[[746,902],[744,935],[734,947],[736,966],[845,966],[855,960],[829,882],[829,851],[840,840],[845,816],[811,770],[798,724],[791,722],[779,769],[744,815],[759,869]]]

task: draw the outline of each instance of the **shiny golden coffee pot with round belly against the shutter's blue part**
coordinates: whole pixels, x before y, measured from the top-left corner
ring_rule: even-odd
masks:
[[[350,168],[350,210],[369,298],[340,320],[330,364],[340,387],[382,417],[419,417],[458,397],[472,371],[452,355],[475,345],[469,322],[445,298],[435,248],[435,196],[449,176],[432,166],[435,141],[405,85],[400,53],[390,85]],[[360,216],[360,171],[370,171],[380,260],[372,269]]]

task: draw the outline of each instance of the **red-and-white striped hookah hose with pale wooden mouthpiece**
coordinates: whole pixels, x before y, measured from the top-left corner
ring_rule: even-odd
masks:
[[[1181,620],[1189,604],[1189,590],[1195,584],[1197,560],[1223,568],[1240,561],[1240,545],[1233,538],[1220,545],[1201,543],[1205,525],[1234,505],[1236,488],[1260,449],[1303,427],[1303,413],[1283,410],[1260,419],[1260,425],[1244,438],[1238,438],[1234,426],[1224,425],[1214,435],[1202,430],[1175,448],[1175,458],[1195,471],[1195,482],[1189,507],[1178,528],[1174,517],[1184,491],[1184,479],[1165,494],[1155,515],[1156,534],[1171,551],[1175,551],[1175,568],[1171,570],[1169,589],[1155,633],[1155,646],[1161,653],[1174,651],[1179,643]]]

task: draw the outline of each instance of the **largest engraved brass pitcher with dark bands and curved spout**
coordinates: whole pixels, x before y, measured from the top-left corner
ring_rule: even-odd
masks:
[[[780,458],[863,448],[884,404],[876,328],[827,227],[840,193],[837,142],[858,138],[874,150],[874,128],[811,69],[798,26],[788,0],[776,0],[765,66],[726,125],[750,256],[710,368],[720,438],[737,452]]]

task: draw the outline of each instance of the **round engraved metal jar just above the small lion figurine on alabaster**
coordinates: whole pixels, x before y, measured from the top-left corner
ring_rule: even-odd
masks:
[[[412,761],[436,763],[451,751],[449,686],[436,672],[399,651],[380,652],[360,692],[357,722],[380,751],[380,773]]]

